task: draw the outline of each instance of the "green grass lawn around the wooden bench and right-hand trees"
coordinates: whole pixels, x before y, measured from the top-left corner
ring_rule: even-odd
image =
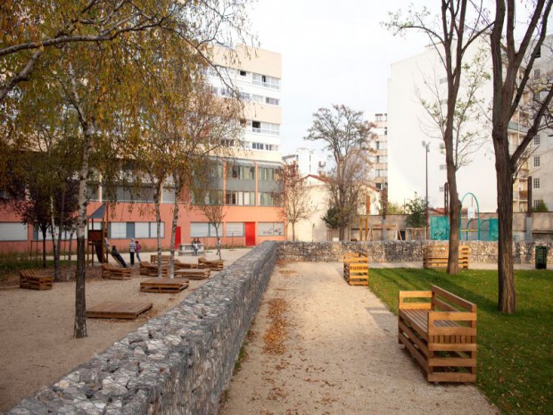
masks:
[[[516,270],[517,312],[497,310],[498,273],[373,269],[370,289],[398,312],[400,290],[433,284],[478,306],[476,385],[508,414],[553,414],[553,271]]]

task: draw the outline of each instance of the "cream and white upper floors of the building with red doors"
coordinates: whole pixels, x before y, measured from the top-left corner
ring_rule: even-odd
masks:
[[[214,61],[226,74],[229,85],[238,89],[244,102],[243,149],[238,156],[280,163],[282,124],[282,56],[249,46],[219,47]],[[210,68],[209,82],[217,95],[230,95],[225,82]]]

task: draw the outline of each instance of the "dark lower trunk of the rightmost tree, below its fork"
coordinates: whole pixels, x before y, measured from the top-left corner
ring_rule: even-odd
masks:
[[[507,137],[496,139],[495,168],[498,188],[498,308],[501,312],[516,312],[515,272],[513,269],[513,173],[510,168]]]

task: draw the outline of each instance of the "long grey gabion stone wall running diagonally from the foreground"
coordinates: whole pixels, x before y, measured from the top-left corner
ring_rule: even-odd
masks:
[[[216,414],[276,261],[252,249],[167,314],[7,413]]]

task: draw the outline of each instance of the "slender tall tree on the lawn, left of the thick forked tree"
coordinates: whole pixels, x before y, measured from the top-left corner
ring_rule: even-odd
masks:
[[[447,111],[445,119],[438,119],[442,129],[443,144],[447,165],[447,178],[450,189],[450,253],[448,273],[458,273],[458,229],[461,203],[458,199],[456,160],[454,147],[454,129],[456,111],[459,112],[458,93],[461,86],[464,58],[467,49],[478,39],[488,25],[485,25],[482,4],[468,0],[442,0],[442,11],[439,20],[430,21],[431,13],[424,8],[421,12],[409,10],[404,20],[400,12],[391,13],[391,21],[386,23],[388,29],[401,33],[406,29],[417,29],[425,33],[438,54],[447,79]],[[469,26],[468,19],[474,14],[474,21]],[[458,118],[458,120],[460,120]]]

